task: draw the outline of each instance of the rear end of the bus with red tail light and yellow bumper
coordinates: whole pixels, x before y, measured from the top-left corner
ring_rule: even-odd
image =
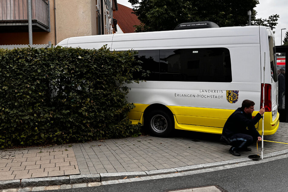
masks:
[[[279,127],[278,74],[276,68],[275,39],[273,31],[270,28],[260,26],[259,29],[262,73],[260,105],[261,107],[263,106],[264,97],[264,135],[271,135],[274,134]],[[262,120],[259,121],[259,124],[262,125]],[[262,134],[262,129],[258,131]]]

